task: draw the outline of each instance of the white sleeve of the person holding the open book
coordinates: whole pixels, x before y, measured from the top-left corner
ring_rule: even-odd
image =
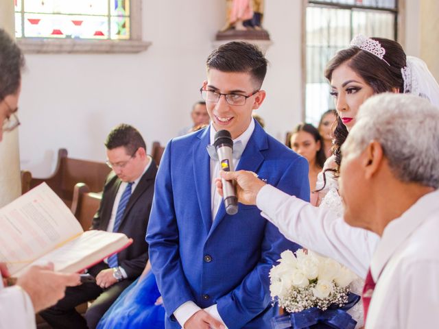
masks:
[[[19,286],[0,288],[0,329],[36,328],[34,306]]]

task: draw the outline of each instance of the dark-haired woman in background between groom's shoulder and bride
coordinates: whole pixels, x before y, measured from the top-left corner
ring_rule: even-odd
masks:
[[[322,136],[316,127],[309,123],[300,123],[292,132],[290,145],[293,151],[305,157],[309,163],[309,188],[311,190],[311,203],[313,191],[316,189],[317,175],[322,171],[327,157],[322,147]]]

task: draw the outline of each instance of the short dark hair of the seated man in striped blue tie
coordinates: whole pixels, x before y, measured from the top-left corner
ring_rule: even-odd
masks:
[[[126,123],[121,123],[112,128],[104,145],[107,149],[115,149],[116,147],[123,146],[130,155],[134,155],[139,147],[143,147],[143,149],[146,150],[145,141],[139,130]]]

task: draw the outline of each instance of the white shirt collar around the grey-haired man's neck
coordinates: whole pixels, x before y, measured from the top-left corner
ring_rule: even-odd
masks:
[[[383,236],[377,245],[370,263],[370,273],[375,282],[393,254],[405,243],[407,238],[431,215],[439,211],[439,191],[420,197],[401,217],[394,219],[384,228]]]

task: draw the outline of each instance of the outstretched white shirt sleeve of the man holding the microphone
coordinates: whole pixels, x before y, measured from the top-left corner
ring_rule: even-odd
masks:
[[[287,239],[331,257],[366,278],[379,241],[377,234],[353,228],[331,210],[314,207],[270,185],[259,191],[257,206]]]

